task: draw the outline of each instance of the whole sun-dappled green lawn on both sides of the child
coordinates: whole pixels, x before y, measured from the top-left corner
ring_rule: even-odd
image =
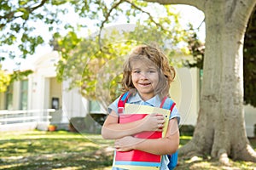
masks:
[[[181,137],[181,144],[191,139]],[[256,149],[256,139],[251,139]],[[66,131],[1,133],[0,169],[111,169],[112,140],[103,140],[100,135],[69,133]],[[221,167],[218,161],[184,160],[179,157],[177,169],[252,169],[253,162],[236,161],[232,167]],[[236,167],[236,168],[235,168]]]

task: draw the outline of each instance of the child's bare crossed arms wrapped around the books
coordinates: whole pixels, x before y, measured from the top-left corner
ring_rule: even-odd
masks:
[[[145,116],[142,120],[124,124],[118,123],[117,114],[112,111],[102,127],[104,139],[116,139],[114,147],[119,151],[143,150],[155,155],[174,153],[179,144],[179,131],[177,119],[169,121],[166,137],[162,139],[137,139],[133,134],[143,131],[162,131],[164,117],[157,114]]]

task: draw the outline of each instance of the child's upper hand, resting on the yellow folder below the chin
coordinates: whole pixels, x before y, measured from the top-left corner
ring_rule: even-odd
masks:
[[[143,131],[163,131],[163,127],[165,126],[165,118],[164,116],[153,113],[148,114],[148,116],[145,116],[142,120],[141,128]]]

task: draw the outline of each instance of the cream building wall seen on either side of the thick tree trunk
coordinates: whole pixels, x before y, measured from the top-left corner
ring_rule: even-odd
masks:
[[[195,68],[178,68],[177,77],[171,84],[172,99],[177,104],[181,114],[180,126],[195,126],[200,108],[200,77]],[[255,136],[256,108],[252,105],[244,106],[244,120],[248,137]]]

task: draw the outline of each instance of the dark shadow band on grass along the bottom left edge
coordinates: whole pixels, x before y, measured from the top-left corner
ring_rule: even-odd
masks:
[[[105,156],[84,156],[84,154],[62,154],[54,156],[26,157],[19,161],[3,162],[4,169],[101,169],[109,167],[112,159]]]

